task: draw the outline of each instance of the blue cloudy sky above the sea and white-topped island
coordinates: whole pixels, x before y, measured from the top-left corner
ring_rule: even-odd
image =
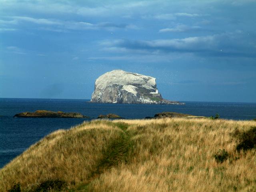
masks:
[[[0,98],[90,99],[114,69],[169,100],[256,102],[256,0],[0,0]]]

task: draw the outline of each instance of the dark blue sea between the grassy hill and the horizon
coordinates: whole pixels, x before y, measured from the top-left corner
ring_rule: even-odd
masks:
[[[256,118],[256,103],[186,102],[186,105],[96,104],[89,100],[69,99],[9,99],[0,98],[0,168],[21,154],[31,144],[58,129],[67,129],[85,119],[13,118],[20,112],[52,110],[79,112],[96,118],[114,113],[124,118],[144,118],[164,111],[198,116],[214,116],[235,120]]]

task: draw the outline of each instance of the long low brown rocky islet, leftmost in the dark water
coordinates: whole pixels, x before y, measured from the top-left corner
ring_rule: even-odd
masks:
[[[69,112],[65,113],[62,111],[54,112],[48,110],[36,110],[35,112],[23,112],[15,114],[14,117],[24,117],[24,118],[90,118],[84,116],[80,113]]]

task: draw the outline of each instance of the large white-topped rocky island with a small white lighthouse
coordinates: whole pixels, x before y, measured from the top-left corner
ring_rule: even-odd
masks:
[[[127,104],[184,104],[163,99],[156,78],[113,70],[96,79],[90,102]]]

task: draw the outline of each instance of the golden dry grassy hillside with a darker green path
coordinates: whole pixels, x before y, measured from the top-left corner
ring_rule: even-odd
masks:
[[[0,191],[13,182],[40,191],[58,181],[64,191],[256,191],[256,149],[236,150],[238,135],[252,127],[186,118],[85,122],[53,132],[2,168]]]

